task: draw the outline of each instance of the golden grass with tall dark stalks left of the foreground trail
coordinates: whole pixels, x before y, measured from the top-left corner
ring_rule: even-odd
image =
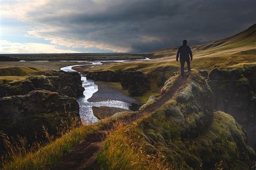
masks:
[[[97,125],[80,125],[75,119],[63,121],[62,124],[64,126],[59,131],[59,138],[49,135],[44,128],[49,143],[35,143],[30,149],[26,149],[24,138],[19,138],[18,143],[11,144],[9,138],[2,134],[8,151],[2,158],[2,169],[48,169],[60,160],[64,152],[71,151],[86,135],[99,128]]]

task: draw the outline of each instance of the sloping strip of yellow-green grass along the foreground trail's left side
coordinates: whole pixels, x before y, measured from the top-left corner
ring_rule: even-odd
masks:
[[[98,128],[97,125],[90,125],[63,131],[62,138],[49,141],[46,146],[36,144],[39,148],[31,151],[20,149],[23,147],[21,144],[16,146],[10,144],[9,153],[6,155],[9,159],[5,159],[2,169],[49,169],[50,165],[59,161],[63,153],[71,151],[78,142]]]

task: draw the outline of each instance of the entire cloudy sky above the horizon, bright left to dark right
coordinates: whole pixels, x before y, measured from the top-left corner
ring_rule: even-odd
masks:
[[[150,52],[256,23],[255,0],[0,0],[0,53]]]

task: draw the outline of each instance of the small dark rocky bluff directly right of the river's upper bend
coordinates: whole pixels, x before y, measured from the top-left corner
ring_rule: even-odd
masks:
[[[86,78],[95,80],[95,81],[106,81],[106,82],[117,82],[118,81],[117,73],[115,73],[113,71],[87,72]]]

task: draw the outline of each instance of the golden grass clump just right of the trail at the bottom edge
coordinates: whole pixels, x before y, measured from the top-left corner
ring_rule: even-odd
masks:
[[[119,122],[107,134],[102,153],[97,157],[101,169],[167,169],[163,155],[147,154],[143,138]]]

